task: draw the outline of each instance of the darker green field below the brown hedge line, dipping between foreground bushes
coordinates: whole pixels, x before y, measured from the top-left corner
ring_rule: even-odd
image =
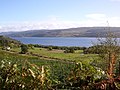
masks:
[[[20,66],[25,65],[26,61],[29,61],[31,64],[35,64],[39,67],[49,66],[51,71],[51,78],[55,80],[58,79],[58,80],[64,81],[66,76],[68,76],[68,74],[74,68],[74,65],[75,65],[75,63],[73,62],[71,63],[63,60],[45,59],[37,56],[18,54],[16,52],[0,50],[0,61],[3,60],[3,61],[12,62],[12,63],[15,62]]]

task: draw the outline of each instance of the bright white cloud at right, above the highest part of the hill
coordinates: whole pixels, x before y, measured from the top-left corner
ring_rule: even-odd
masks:
[[[119,27],[120,26],[120,17],[117,16],[107,16],[105,14],[87,14],[85,15],[87,20],[85,23],[93,24],[93,26],[107,26],[107,21],[110,26]]]

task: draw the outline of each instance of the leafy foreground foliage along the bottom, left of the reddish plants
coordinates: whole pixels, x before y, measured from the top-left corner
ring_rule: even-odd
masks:
[[[54,66],[42,65],[38,67],[28,61],[18,63],[2,60],[0,62],[0,89],[48,90],[81,88],[84,90],[86,86],[92,87],[91,85],[104,75],[101,69],[82,63],[72,66],[71,73],[65,73],[67,68],[63,69],[63,66],[61,66],[61,69],[57,69],[58,66],[56,68],[52,67]]]

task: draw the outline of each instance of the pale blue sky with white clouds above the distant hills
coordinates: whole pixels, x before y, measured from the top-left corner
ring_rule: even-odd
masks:
[[[0,0],[0,32],[120,27],[120,0]]]

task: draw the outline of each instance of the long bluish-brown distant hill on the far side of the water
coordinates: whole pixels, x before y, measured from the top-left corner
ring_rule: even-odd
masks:
[[[56,30],[29,30],[23,32],[4,33],[10,37],[104,37],[110,31],[120,37],[120,27],[80,27]]]

